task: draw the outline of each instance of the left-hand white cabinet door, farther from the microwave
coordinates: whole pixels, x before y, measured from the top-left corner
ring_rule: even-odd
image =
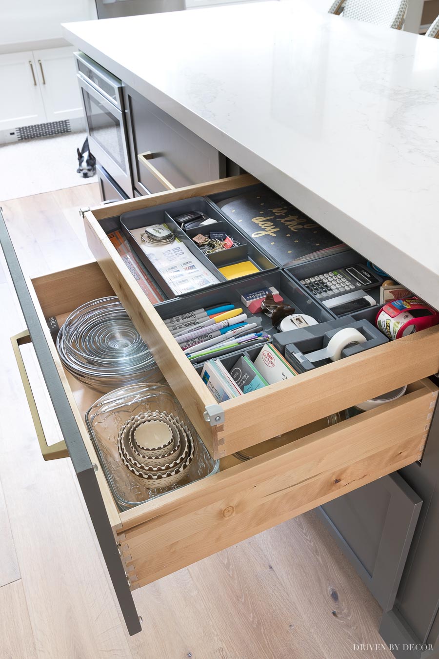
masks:
[[[0,55],[0,130],[45,121],[45,111],[32,52]]]

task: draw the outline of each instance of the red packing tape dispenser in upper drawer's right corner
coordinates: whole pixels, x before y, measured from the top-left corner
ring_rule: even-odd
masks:
[[[439,313],[418,297],[384,304],[375,324],[389,339],[401,339],[439,323]]]

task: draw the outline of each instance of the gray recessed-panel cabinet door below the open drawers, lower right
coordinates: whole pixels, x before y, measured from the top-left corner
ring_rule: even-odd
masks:
[[[394,604],[421,505],[421,498],[394,473],[319,509],[384,611]]]

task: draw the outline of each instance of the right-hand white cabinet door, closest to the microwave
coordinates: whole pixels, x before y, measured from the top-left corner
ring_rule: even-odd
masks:
[[[82,117],[82,103],[71,46],[34,50],[45,121]]]

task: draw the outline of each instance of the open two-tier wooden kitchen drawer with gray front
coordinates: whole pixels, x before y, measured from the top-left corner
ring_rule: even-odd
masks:
[[[207,194],[222,185],[228,182],[191,189],[193,194]],[[236,187],[237,181],[231,185]],[[188,191],[170,194],[187,195]],[[154,198],[115,204],[110,214],[128,206],[138,208],[139,202],[154,203]],[[102,210],[107,212],[108,207]],[[203,412],[213,399],[195,369],[180,359],[172,346],[174,339],[91,212],[87,223],[102,270],[93,262],[26,283],[3,222],[0,241],[65,437],[66,446],[57,447],[56,455],[68,454],[72,459],[128,631],[133,634],[140,631],[140,622],[130,590],[420,459],[438,391],[430,380],[417,380],[438,370],[438,333],[426,330],[388,344],[385,351],[369,351],[376,357],[368,359],[366,353],[360,360],[349,358],[346,365],[321,368],[315,376],[298,377],[297,386],[270,387],[269,396],[247,394],[241,411],[238,406],[224,405],[224,423],[211,426]],[[407,395],[393,403],[246,463],[228,455],[219,473],[121,512],[84,422],[86,410],[100,394],[65,373],[47,324],[53,316],[63,322],[80,304],[113,291],[126,304],[188,415],[217,454],[255,444],[401,384],[413,384]],[[26,378],[24,372],[22,376]],[[366,384],[358,383],[361,378]],[[28,399],[32,408],[30,391]],[[38,413],[33,411],[35,418]]]

